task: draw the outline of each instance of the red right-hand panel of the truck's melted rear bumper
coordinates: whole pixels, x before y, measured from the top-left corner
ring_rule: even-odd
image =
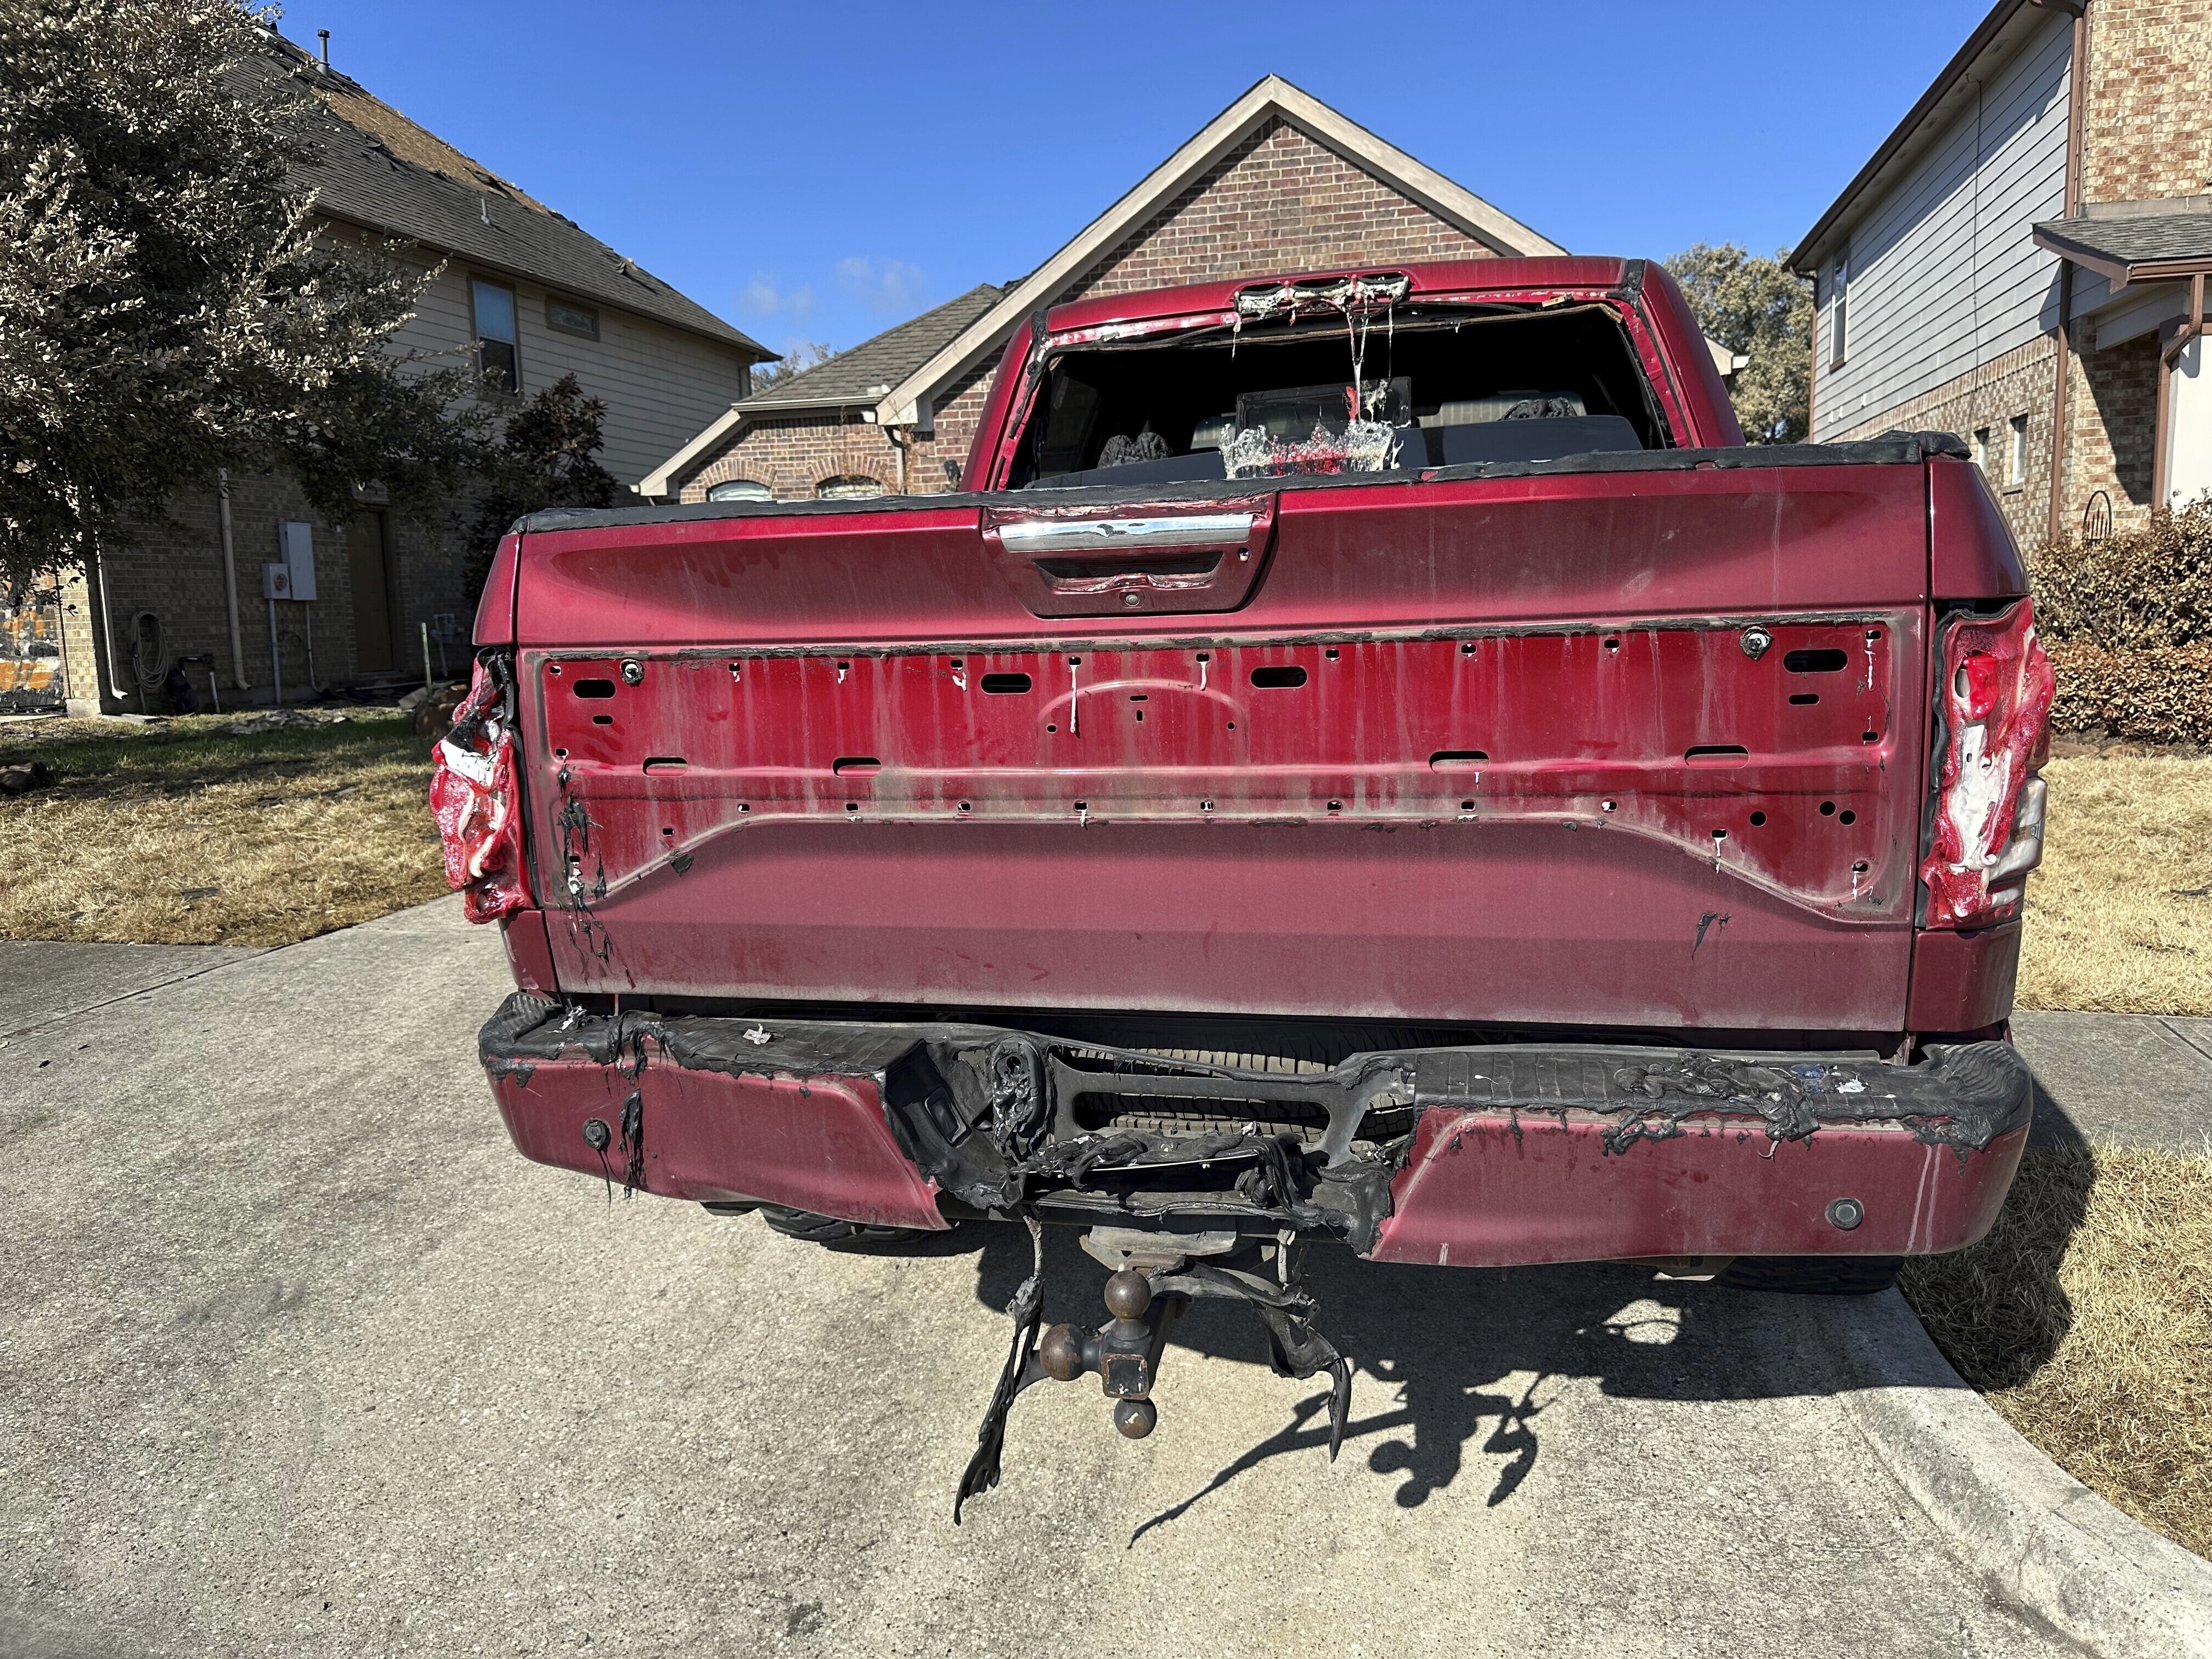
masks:
[[[1431,1110],[1391,1186],[1371,1259],[1467,1267],[1619,1256],[1900,1256],[1960,1250],[1997,1219],[2026,1128],[1982,1152],[1922,1146],[1907,1128],[1823,1128],[1770,1141],[1763,1126],[1690,1119],[1670,1141],[1608,1155],[1606,1119]],[[1834,1199],[1865,1221],[1843,1232]]]

